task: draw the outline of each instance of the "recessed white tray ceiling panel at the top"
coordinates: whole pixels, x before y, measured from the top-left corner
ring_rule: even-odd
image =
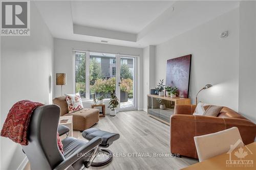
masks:
[[[75,25],[139,33],[172,1],[72,1]]]

